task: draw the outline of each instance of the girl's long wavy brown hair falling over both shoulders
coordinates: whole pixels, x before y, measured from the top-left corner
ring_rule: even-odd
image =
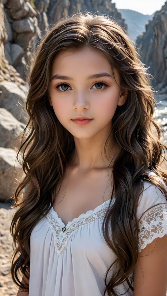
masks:
[[[53,206],[55,186],[62,184],[67,163],[75,149],[73,135],[59,122],[48,101],[51,65],[59,52],[65,49],[75,52],[87,46],[105,54],[115,82],[113,68],[119,72],[120,85],[117,85],[122,91],[128,90],[125,104],[117,106],[105,142],[105,154],[111,137],[120,151],[112,163],[111,201],[114,196],[115,202],[108,207],[103,220],[105,241],[117,257],[105,274],[104,295],[108,292],[109,296],[117,296],[114,287],[124,281],[133,290],[128,275],[137,261],[136,211],[144,189],[143,180],[158,186],[167,198],[159,178],[145,173],[146,169],[152,170],[167,184],[162,165],[167,147],[160,140],[160,126],[154,120],[156,101],[150,83],[152,75],[141,62],[135,44],[109,16],[84,11],[62,18],[42,36],[33,53],[26,98],[29,120],[20,135],[17,154],[25,175],[15,190],[15,203],[11,206],[18,208],[10,227],[15,249],[11,274],[14,283],[27,291],[28,286],[21,283],[18,273],[21,271],[29,279],[31,231]],[[107,274],[114,264],[119,268],[107,283]]]

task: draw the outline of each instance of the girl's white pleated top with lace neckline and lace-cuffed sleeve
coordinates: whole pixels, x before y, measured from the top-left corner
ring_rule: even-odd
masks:
[[[139,251],[153,239],[167,234],[166,198],[148,181],[144,182],[144,189],[137,211]],[[105,272],[116,259],[102,233],[108,205],[109,200],[67,225],[52,207],[34,226],[30,236],[29,296],[103,296]],[[113,269],[107,279],[112,272]],[[129,275],[131,278],[133,272]],[[118,295],[133,295],[132,290],[127,292],[127,289],[126,281],[115,288]]]

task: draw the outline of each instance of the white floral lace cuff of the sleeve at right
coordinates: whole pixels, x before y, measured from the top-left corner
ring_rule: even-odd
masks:
[[[138,225],[138,252],[141,252],[155,238],[167,234],[167,204],[155,205],[146,211]]]

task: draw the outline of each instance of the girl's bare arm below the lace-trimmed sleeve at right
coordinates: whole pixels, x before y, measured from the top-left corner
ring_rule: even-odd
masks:
[[[134,269],[134,296],[166,296],[167,235],[154,239],[138,253]]]

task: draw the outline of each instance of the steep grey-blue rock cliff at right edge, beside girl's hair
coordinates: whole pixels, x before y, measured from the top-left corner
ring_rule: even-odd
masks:
[[[167,93],[167,1],[153,20],[146,25],[146,32],[138,36],[136,44],[141,49],[141,58],[154,76],[152,86]]]

